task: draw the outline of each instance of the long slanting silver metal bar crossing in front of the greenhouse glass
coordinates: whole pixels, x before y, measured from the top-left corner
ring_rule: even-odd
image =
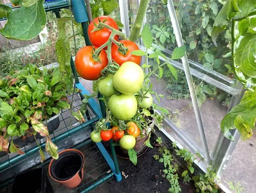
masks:
[[[167,8],[168,8],[168,12],[171,18],[171,22],[172,22],[172,27],[173,27],[173,31],[176,37],[176,41],[178,44],[178,47],[183,46],[183,40],[182,40],[182,36],[181,36],[181,32],[180,32],[180,28],[179,28],[179,24],[178,24],[178,19],[175,13],[175,9],[172,3],[172,0],[168,0],[167,3]],[[184,68],[184,72],[185,72],[185,76],[188,82],[188,89],[189,92],[191,94],[191,100],[192,100],[192,104],[193,104],[193,108],[195,111],[195,115],[196,115],[196,121],[197,121],[197,125],[199,128],[199,134],[200,134],[200,138],[202,141],[202,145],[203,145],[203,149],[204,149],[204,156],[206,158],[206,162],[208,164],[211,164],[211,159],[210,159],[210,154],[209,154],[209,150],[208,150],[208,146],[207,146],[207,141],[206,141],[206,136],[205,136],[205,132],[204,132],[204,125],[203,125],[203,120],[201,117],[201,112],[200,112],[200,108],[199,108],[199,104],[197,101],[197,97],[196,97],[196,91],[193,85],[193,79],[191,76],[191,71],[188,65],[188,58],[187,55],[185,54],[182,58],[182,63],[183,63],[183,68]]]

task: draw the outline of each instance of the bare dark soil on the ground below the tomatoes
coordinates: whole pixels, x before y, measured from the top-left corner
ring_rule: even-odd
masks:
[[[110,180],[93,190],[92,193],[168,193],[170,183],[162,177],[164,165],[153,157],[159,154],[155,139],[156,136],[152,135],[151,144],[154,149],[149,148],[145,154],[140,156],[136,166],[131,161],[118,157],[120,171],[124,172],[126,178],[122,176],[121,182]],[[179,176],[182,172],[181,169]],[[183,193],[196,192],[193,182],[185,183],[180,177],[179,183]]]

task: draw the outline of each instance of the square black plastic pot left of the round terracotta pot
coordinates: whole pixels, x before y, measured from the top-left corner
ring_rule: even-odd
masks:
[[[12,193],[54,193],[44,167],[26,171],[14,178]]]

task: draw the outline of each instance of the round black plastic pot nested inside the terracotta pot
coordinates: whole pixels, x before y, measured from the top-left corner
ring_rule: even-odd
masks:
[[[60,154],[59,159],[54,160],[51,174],[56,180],[65,181],[76,175],[82,177],[83,157],[76,151],[66,151]]]

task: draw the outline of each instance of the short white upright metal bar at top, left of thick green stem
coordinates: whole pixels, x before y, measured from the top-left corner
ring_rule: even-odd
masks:
[[[122,31],[126,35],[126,37],[129,37],[130,25],[129,25],[127,0],[119,0],[119,10],[120,10],[121,23],[123,23],[123,27],[124,27]]]

